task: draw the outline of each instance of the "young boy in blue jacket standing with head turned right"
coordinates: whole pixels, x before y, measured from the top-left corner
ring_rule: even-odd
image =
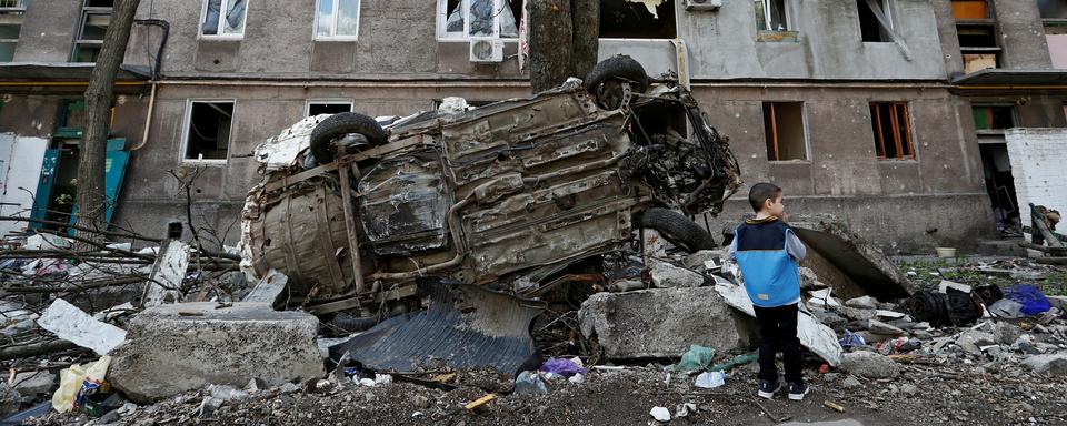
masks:
[[[781,202],[781,189],[757,183],[748,192],[756,219],[734,231],[730,253],[737,260],[748,297],[759,323],[759,390],[772,398],[781,388],[775,353],[782,352],[789,399],[804,400],[800,339],[797,338],[797,305],[800,302],[800,275],[797,262],[804,258],[804,243],[785,223],[788,216]]]

